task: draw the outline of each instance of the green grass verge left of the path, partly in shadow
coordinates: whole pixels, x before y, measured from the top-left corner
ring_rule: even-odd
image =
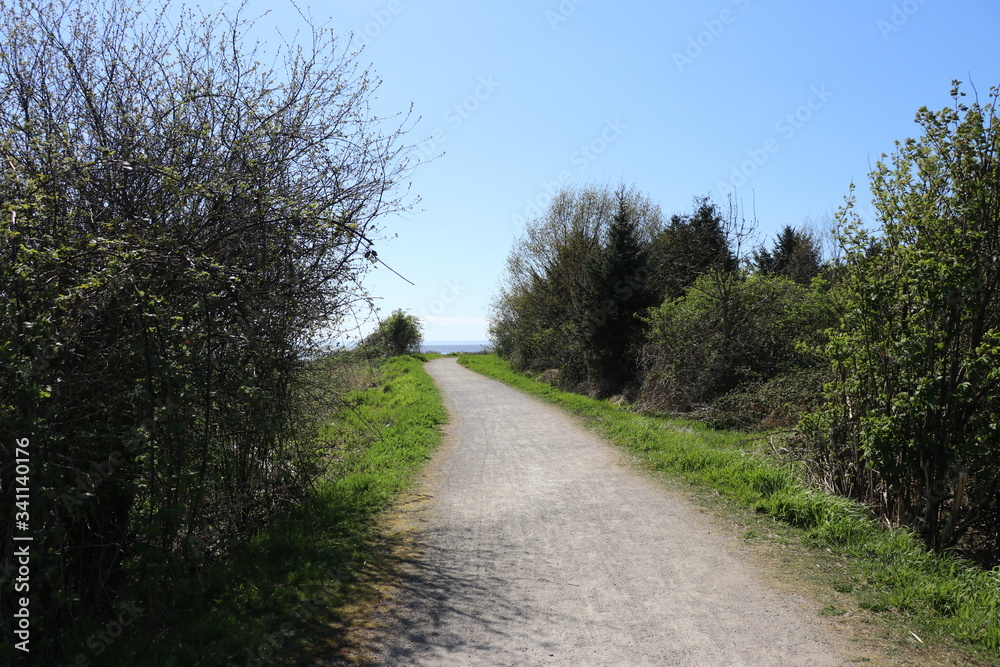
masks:
[[[94,633],[77,638],[66,663],[313,664],[354,650],[359,605],[378,598],[399,565],[377,520],[440,443],[446,413],[412,357],[390,359],[377,386],[348,399],[321,434],[344,446],[308,503],[276,517],[231,557],[178,581],[184,594],[170,609],[151,603],[107,643]]]

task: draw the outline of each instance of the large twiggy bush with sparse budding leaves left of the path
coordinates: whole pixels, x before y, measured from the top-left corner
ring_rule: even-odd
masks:
[[[0,432],[34,443],[41,660],[56,628],[126,602],[155,624],[173,577],[322,471],[304,359],[408,167],[331,34],[272,69],[251,28],[118,0],[0,6]],[[5,586],[0,616],[11,604]]]

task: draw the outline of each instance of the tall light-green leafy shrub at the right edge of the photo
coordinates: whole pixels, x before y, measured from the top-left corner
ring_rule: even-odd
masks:
[[[989,104],[917,114],[872,178],[880,229],[842,209],[843,318],[814,439],[863,458],[883,511],[943,549],[1000,546],[1000,118]],[[878,487],[870,492],[878,496]]]

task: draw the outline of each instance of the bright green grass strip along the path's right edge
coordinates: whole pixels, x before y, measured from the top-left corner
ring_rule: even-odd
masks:
[[[584,418],[649,470],[714,490],[736,507],[793,527],[812,549],[843,559],[846,574],[835,584],[838,590],[887,624],[916,632],[925,642],[959,646],[974,662],[1000,662],[1000,568],[983,571],[928,553],[908,531],[883,529],[859,504],[811,488],[795,468],[749,449],[744,433],[645,416],[560,391],[513,371],[495,355],[462,356],[459,363]],[[825,615],[839,614],[832,609]]]

